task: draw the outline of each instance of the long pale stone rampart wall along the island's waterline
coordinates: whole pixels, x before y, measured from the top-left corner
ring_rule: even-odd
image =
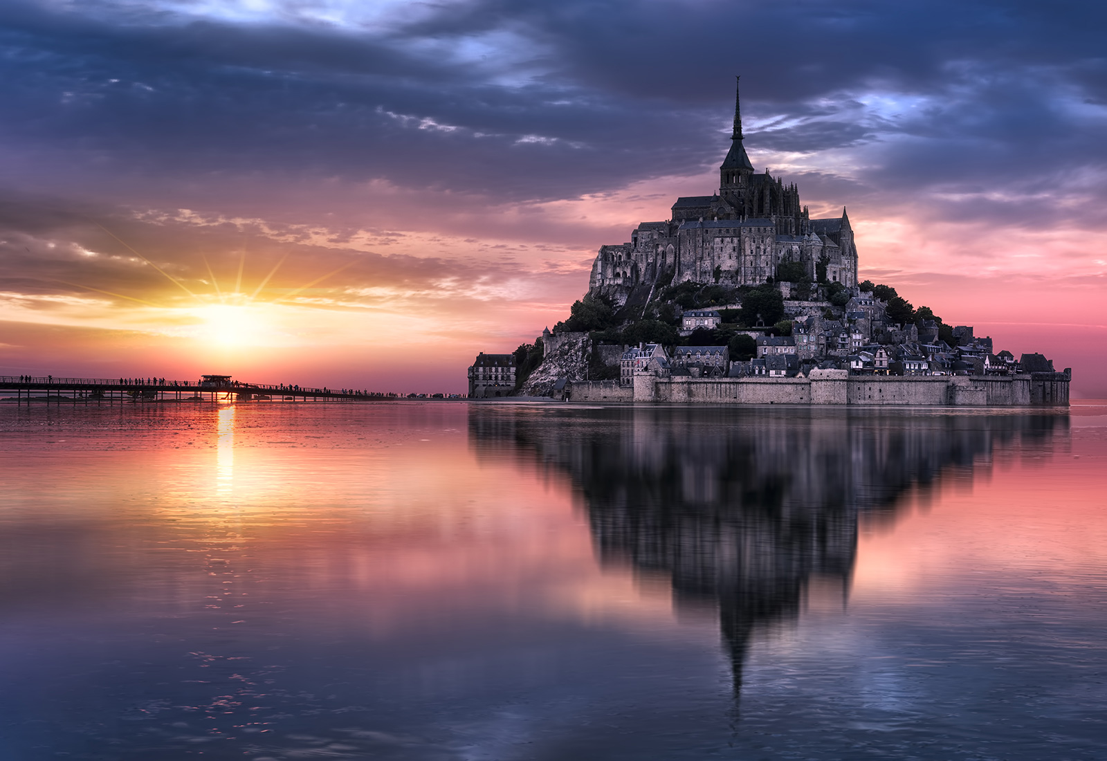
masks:
[[[844,369],[813,371],[796,378],[689,378],[634,374],[633,386],[615,380],[577,382],[570,402],[790,404],[920,407],[1067,406],[1070,371],[1015,377],[857,376]]]

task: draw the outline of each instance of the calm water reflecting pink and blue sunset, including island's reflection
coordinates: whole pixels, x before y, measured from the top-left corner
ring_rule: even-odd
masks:
[[[1105,759],[1107,407],[0,407],[0,758]]]

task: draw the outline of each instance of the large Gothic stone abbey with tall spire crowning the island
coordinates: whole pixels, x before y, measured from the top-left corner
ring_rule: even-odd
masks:
[[[846,210],[838,218],[810,219],[795,185],[768,169],[754,170],[743,139],[735,94],[718,192],[677,198],[668,221],[642,222],[629,243],[600,247],[589,290],[622,304],[635,288],[652,288],[670,274],[674,283],[759,285],[776,278],[785,262],[798,262],[813,281],[823,264],[827,281],[857,285],[857,247]]]

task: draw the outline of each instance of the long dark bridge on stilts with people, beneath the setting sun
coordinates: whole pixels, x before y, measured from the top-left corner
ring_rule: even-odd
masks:
[[[308,388],[288,384],[245,383],[229,375],[205,375],[199,380],[166,378],[63,378],[53,375],[0,375],[0,396],[17,404],[96,404],[134,402],[358,402],[385,398],[351,388]]]

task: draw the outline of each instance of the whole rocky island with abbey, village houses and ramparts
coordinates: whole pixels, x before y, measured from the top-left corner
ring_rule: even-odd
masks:
[[[1072,369],[995,351],[970,325],[858,281],[846,208],[813,219],[795,184],[757,173],[735,92],[708,196],[601,246],[588,293],[532,344],[480,353],[468,395],[619,403],[1068,405]]]

